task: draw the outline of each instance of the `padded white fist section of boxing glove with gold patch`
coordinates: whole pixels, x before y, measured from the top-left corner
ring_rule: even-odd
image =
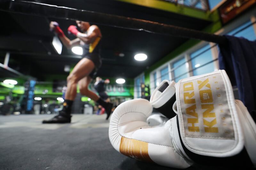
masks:
[[[170,120],[151,127],[146,122],[152,113],[148,100],[128,100],[116,107],[109,122],[109,140],[116,151],[141,161],[187,168],[186,157],[175,152],[170,136]]]

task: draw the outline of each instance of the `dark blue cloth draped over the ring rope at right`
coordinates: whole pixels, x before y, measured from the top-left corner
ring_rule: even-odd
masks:
[[[237,86],[239,99],[256,120],[256,42],[225,35],[228,43],[219,44],[219,64],[226,70],[232,86]]]

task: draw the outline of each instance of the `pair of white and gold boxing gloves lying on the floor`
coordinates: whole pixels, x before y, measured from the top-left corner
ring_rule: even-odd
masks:
[[[153,107],[167,121],[156,116],[150,126]],[[150,101],[125,101],[111,116],[109,139],[128,157],[174,168],[256,165],[256,125],[225,70],[164,80]]]

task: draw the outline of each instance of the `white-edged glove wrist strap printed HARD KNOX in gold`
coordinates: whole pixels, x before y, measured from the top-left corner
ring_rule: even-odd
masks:
[[[225,70],[181,79],[176,99],[180,136],[190,152],[223,158],[242,151],[244,136]]]

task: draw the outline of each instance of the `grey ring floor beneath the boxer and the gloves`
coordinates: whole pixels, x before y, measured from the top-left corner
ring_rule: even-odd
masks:
[[[1,170],[172,169],[117,152],[108,139],[106,114],[74,114],[67,124],[41,123],[52,116],[0,116]],[[194,165],[188,169],[221,168]]]

